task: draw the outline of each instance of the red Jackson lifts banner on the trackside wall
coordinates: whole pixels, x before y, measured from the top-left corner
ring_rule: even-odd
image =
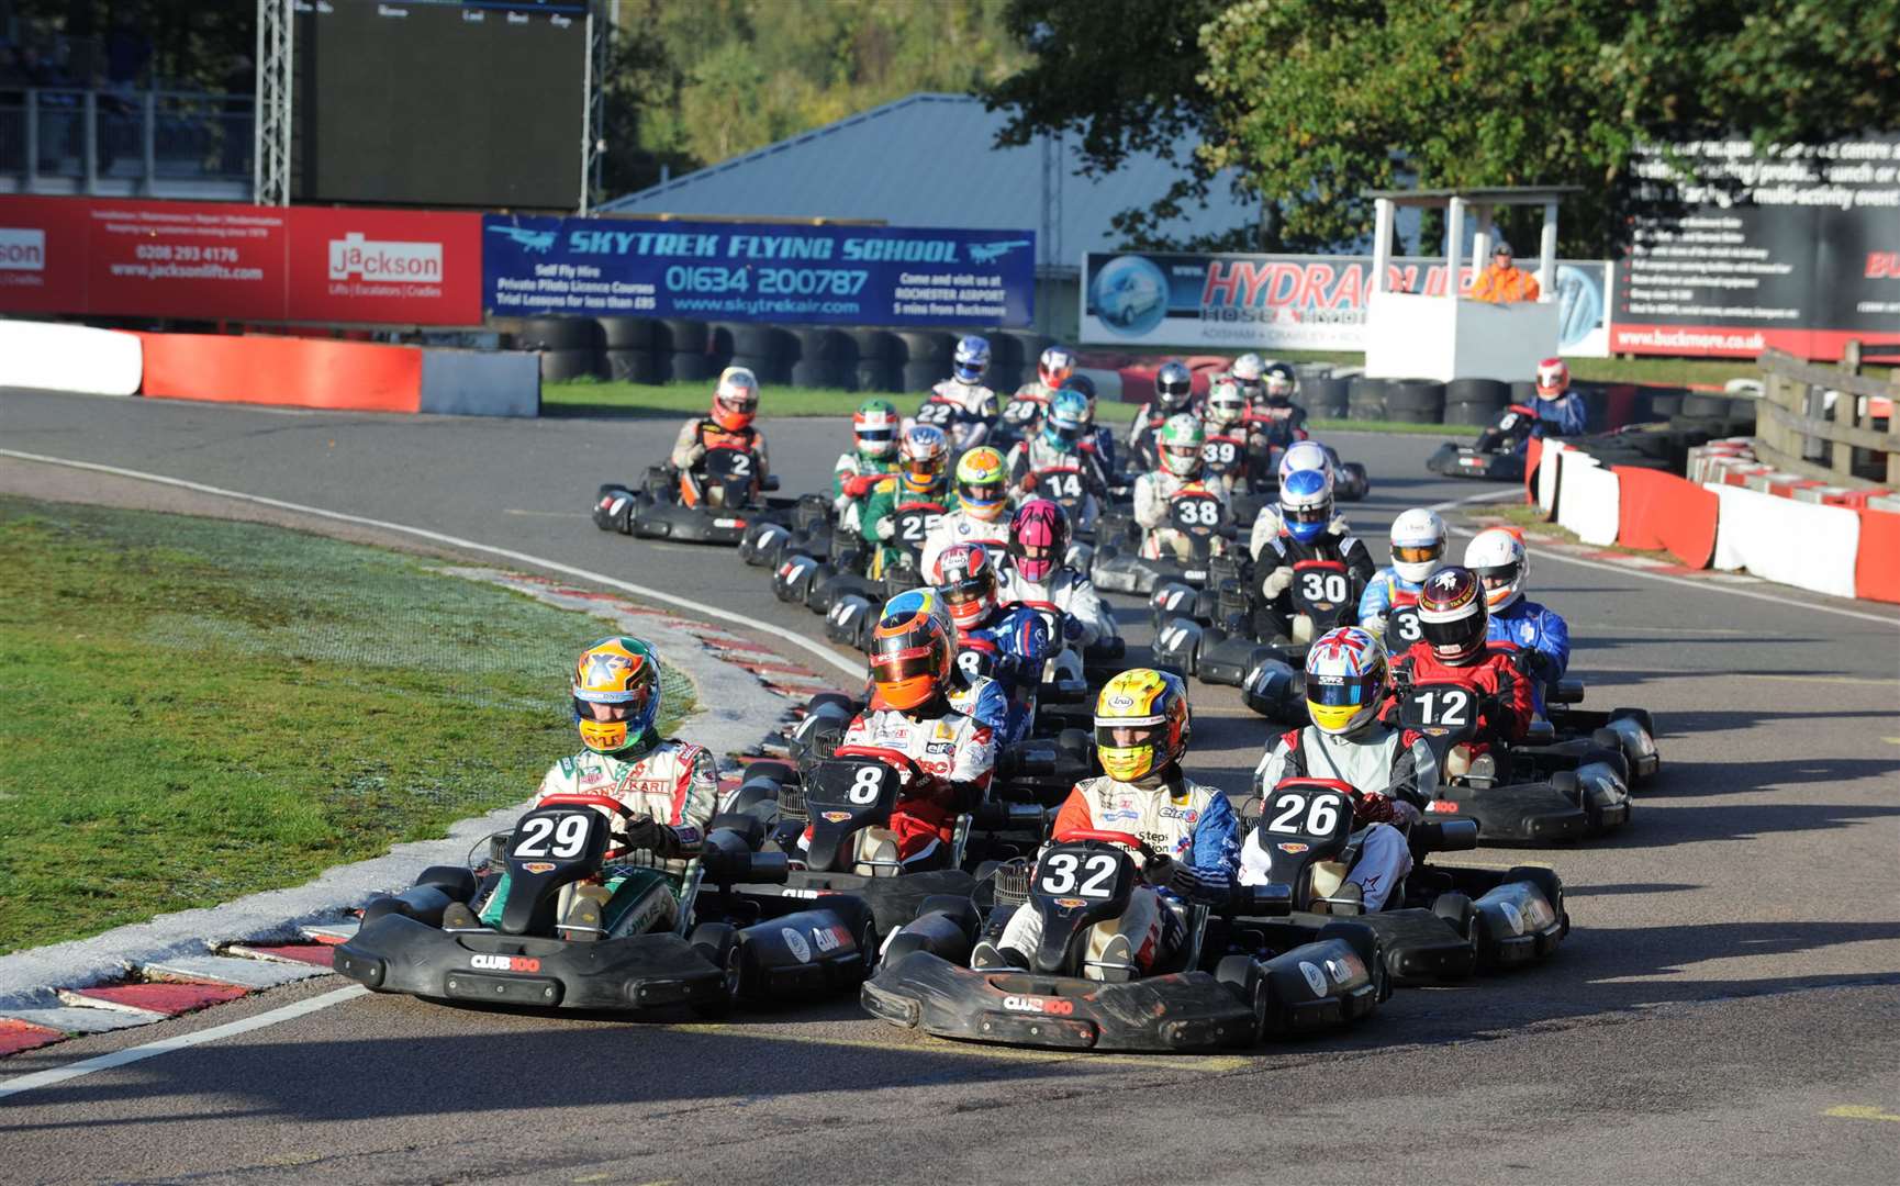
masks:
[[[481,215],[0,198],[0,312],[479,325]]]

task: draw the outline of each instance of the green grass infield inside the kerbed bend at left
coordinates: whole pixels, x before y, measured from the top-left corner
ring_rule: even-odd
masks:
[[[0,498],[0,952],[526,798],[608,629],[395,551]],[[690,701],[667,671],[667,726]]]

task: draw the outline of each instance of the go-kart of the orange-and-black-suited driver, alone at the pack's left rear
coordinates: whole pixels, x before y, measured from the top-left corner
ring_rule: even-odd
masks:
[[[593,521],[642,540],[688,544],[737,544],[758,519],[785,521],[794,498],[768,498],[779,479],[758,477],[756,458],[745,449],[707,449],[697,469],[654,466],[638,490],[604,485],[595,496]]]

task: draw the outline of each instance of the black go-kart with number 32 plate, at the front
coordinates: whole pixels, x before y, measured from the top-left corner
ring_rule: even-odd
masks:
[[[1282,916],[1284,886],[1237,891],[1220,926],[1210,926],[1208,907],[1186,907],[1186,939],[1159,975],[1094,952],[1096,928],[1127,912],[1142,880],[1165,882],[1167,863],[1129,832],[1072,832],[1043,850],[1034,870],[1016,865],[1028,874],[1016,893],[1005,893],[996,876],[988,910],[977,899],[940,903],[897,931],[861,1000],[874,1017],[939,1038],[1206,1051],[1334,1028],[1364,1017],[1389,992],[1376,933],[1358,922],[1307,931],[1237,918]],[[1032,966],[969,969],[978,935],[999,937],[1015,910],[1041,916]]]

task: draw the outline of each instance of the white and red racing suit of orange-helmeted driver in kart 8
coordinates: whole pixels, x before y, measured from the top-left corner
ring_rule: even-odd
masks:
[[[891,810],[897,859],[942,863],[960,812],[990,791],[998,734],[1009,703],[990,679],[954,682],[933,703],[884,709],[876,698],[846,728],[840,745],[880,745],[914,760],[927,781],[906,785]]]

